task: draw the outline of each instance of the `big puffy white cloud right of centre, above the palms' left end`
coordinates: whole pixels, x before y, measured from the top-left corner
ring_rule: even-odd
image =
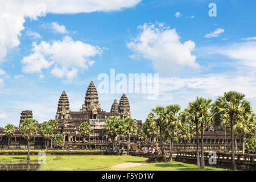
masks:
[[[158,23],[144,23],[138,30],[137,38],[127,43],[127,47],[135,52],[131,57],[142,56],[151,60],[156,71],[167,75],[183,67],[200,67],[196,56],[191,53],[195,42],[181,43],[175,28],[170,30],[169,27],[159,27]]]

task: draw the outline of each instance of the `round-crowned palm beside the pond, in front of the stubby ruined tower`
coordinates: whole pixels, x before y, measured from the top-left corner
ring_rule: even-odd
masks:
[[[24,119],[20,124],[20,131],[25,139],[27,139],[27,160],[30,160],[30,139],[38,133],[38,121],[32,118]]]

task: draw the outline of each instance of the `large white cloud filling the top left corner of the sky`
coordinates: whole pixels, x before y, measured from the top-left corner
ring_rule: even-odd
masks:
[[[95,11],[118,11],[137,5],[141,0],[8,0],[0,1],[0,61],[6,57],[7,49],[19,46],[19,36],[24,30],[25,18],[36,20],[45,13],[73,14]]]

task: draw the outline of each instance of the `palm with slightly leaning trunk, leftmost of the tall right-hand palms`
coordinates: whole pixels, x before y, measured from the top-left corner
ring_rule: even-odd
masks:
[[[166,113],[166,108],[163,106],[156,106],[154,109],[151,110],[151,113],[147,115],[147,118],[150,120],[152,125],[155,125],[157,129],[159,129],[159,138],[160,138],[160,147],[162,151],[162,156],[164,163],[167,163],[166,155],[164,154],[163,148],[163,127],[166,118],[164,117]]]

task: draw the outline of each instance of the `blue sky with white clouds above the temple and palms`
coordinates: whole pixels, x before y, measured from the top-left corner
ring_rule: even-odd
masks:
[[[209,3],[217,16],[210,17]],[[0,127],[22,110],[55,118],[65,90],[71,110],[100,73],[159,73],[158,100],[127,93],[131,117],[196,96],[246,94],[256,108],[256,2],[236,0],[0,1]],[[100,93],[109,111],[121,93]]]

